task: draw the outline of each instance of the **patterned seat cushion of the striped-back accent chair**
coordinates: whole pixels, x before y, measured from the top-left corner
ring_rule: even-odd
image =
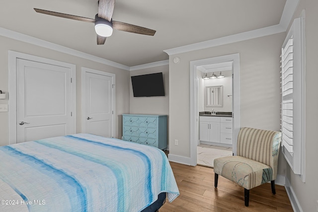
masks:
[[[248,190],[273,180],[270,166],[242,156],[214,159],[214,172]]]

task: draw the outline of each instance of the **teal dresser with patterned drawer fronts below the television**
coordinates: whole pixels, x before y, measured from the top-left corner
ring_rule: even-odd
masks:
[[[123,114],[123,140],[167,148],[167,116]]]

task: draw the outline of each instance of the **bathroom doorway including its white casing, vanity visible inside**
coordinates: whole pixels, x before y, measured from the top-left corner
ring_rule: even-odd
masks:
[[[214,158],[203,152],[214,157],[236,153],[239,117],[239,54],[191,61],[191,165],[213,166]]]

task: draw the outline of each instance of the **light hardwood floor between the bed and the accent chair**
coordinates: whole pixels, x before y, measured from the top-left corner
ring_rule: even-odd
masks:
[[[159,212],[292,212],[285,187],[270,183],[250,190],[249,207],[244,206],[244,188],[219,176],[214,188],[213,168],[170,162],[180,195]]]

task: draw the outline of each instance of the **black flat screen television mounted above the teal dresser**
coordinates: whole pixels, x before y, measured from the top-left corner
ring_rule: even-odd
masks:
[[[162,72],[131,76],[134,97],[164,96]]]

